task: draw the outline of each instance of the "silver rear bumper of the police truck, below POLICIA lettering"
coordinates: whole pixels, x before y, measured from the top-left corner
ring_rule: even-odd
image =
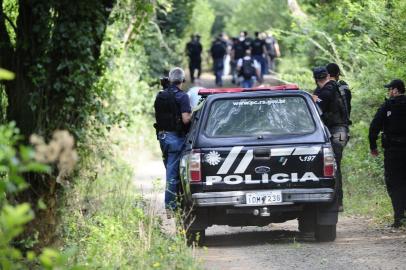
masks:
[[[246,194],[252,192],[264,192],[267,190],[247,190],[247,191],[224,191],[194,193],[192,198],[196,206],[235,206],[249,207],[256,205],[246,204]],[[270,191],[270,190],[269,190]],[[315,203],[331,202],[334,199],[334,189],[332,188],[312,188],[312,189],[282,189],[282,203],[268,205],[288,205],[294,203]],[[261,204],[261,206],[267,204]]]

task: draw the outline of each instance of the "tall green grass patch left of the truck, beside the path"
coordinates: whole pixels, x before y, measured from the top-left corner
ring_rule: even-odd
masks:
[[[156,204],[136,190],[133,165],[120,149],[83,160],[66,192],[61,234],[64,248],[76,250],[71,262],[86,269],[198,269],[184,235],[163,233]]]

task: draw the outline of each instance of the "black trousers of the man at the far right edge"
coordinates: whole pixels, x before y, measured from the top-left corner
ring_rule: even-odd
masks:
[[[406,148],[385,148],[385,182],[392,201],[395,222],[405,218]]]

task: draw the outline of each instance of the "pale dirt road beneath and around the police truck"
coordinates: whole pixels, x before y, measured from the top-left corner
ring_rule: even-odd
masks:
[[[162,161],[146,160],[136,172],[136,186],[158,208],[167,233],[174,233],[174,222],[166,219],[163,210]],[[153,188],[155,179],[160,180]],[[337,228],[335,242],[316,243],[300,239],[297,221],[262,228],[213,226],[206,230],[206,247],[198,248],[196,254],[210,270],[406,269],[406,231],[376,227],[366,218],[345,215],[339,217]]]

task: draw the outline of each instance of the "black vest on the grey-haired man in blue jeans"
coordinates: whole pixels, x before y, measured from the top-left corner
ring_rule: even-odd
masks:
[[[159,91],[154,102],[155,119],[158,131],[182,130],[181,114],[175,99],[175,92],[168,88]]]

